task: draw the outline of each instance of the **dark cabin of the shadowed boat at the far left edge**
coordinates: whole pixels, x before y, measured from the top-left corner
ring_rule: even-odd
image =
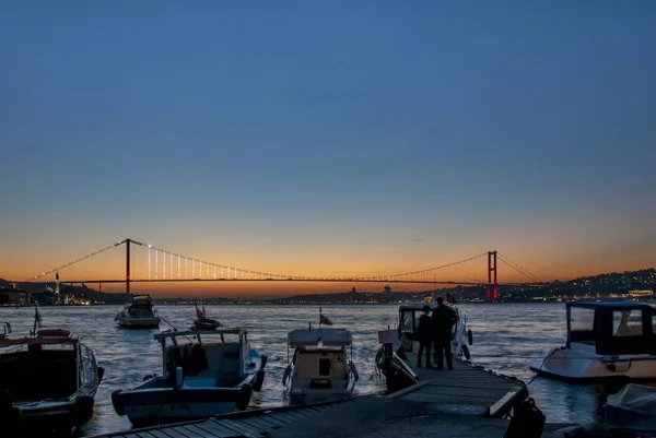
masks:
[[[35,338],[0,340],[0,388],[15,402],[65,399],[95,382],[93,352],[68,331],[39,330]]]

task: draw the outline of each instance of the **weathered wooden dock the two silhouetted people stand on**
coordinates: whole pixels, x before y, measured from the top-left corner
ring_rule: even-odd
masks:
[[[417,357],[410,354],[407,363],[417,364]],[[375,427],[388,428],[385,424],[393,418],[430,418],[441,413],[447,414],[442,415],[443,419],[467,416],[470,419],[462,421],[467,426],[480,422],[481,417],[505,417],[528,396],[528,389],[522,381],[461,360],[454,360],[453,371],[411,368],[419,381],[387,396],[235,412],[95,438],[317,437],[321,435],[319,431],[328,429],[331,436],[352,435],[355,429],[364,435]],[[480,424],[477,427],[480,428]]]

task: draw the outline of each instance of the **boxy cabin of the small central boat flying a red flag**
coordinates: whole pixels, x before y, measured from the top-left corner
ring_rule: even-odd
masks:
[[[343,381],[345,388],[345,347],[351,346],[351,332],[345,329],[293,330],[288,334],[288,362],[290,347],[294,348],[292,386],[308,382],[311,389],[332,388]]]

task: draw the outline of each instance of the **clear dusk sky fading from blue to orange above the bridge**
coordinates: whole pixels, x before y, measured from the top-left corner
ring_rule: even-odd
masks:
[[[127,237],[294,275],[654,267],[655,22],[647,0],[2,2],[0,277]]]

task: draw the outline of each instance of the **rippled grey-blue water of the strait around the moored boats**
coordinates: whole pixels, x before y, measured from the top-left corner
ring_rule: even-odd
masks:
[[[153,340],[156,330],[125,330],[115,325],[120,306],[42,307],[44,327],[81,333],[105,368],[105,377],[95,396],[93,419],[81,435],[95,435],[130,427],[126,417],[114,412],[110,394],[140,382],[147,374],[161,372],[161,350]],[[286,333],[318,323],[315,306],[206,306],[208,318],[226,325],[248,330],[251,346],[269,355],[267,376],[254,406],[288,403],[282,375],[288,363]],[[462,304],[461,312],[473,332],[472,360],[496,371],[529,381],[530,363],[540,360],[565,338],[564,305],[540,304]],[[196,317],[194,306],[160,306],[160,315],[179,329],[188,328]],[[353,333],[353,360],[360,372],[356,393],[383,393],[384,381],[373,376],[378,348],[377,330],[396,325],[398,306],[324,306],[335,327]],[[11,322],[14,335],[27,333],[33,324],[33,308],[1,308],[0,321]],[[163,322],[162,329],[167,328]],[[569,384],[544,378],[532,380],[530,394],[547,415],[548,422],[584,423],[598,419],[609,391],[602,386]]]

